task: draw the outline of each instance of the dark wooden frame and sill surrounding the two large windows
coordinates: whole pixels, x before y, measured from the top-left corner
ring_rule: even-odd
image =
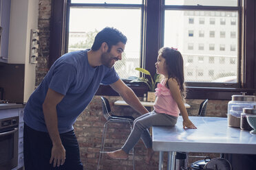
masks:
[[[248,95],[255,93],[256,89],[256,2],[254,0],[238,1],[242,6],[240,12],[244,12],[239,17],[239,40],[241,44],[239,49],[239,61],[242,62],[239,66],[239,80],[241,80],[239,86],[229,87],[226,84],[223,86],[215,87],[207,86],[205,83],[200,82],[186,82],[187,99],[231,99],[231,95],[240,94],[241,92],[247,92]],[[164,1],[149,1],[143,2],[145,6],[144,10],[144,22],[142,25],[142,58],[147,56],[142,61],[142,66],[147,69],[151,75],[156,73],[154,63],[156,62],[156,56],[158,55],[158,49],[162,47],[164,30],[162,27],[164,16],[164,8],[166,6]],[[194,7],[189,6],[175,6],[176,10],[184,8],[192,9]],[[200,6],[195,7],[201,8]],[[204,10],[213,10],[213,7],[205,7]],[[219,7],[220,10],[226,10],[226,8]],[[232,7],[234,8],[234,7]],[[236,8],[236,7],[235,7]],[[241,10],[243,8],[243,10]],[[67,22],[67,0],[52,0],[52,15],[50,25],[50,55],[49,55],[49,68],[53,62],[62,56],[65,51],[65,23]],[[146,38],[147,37],[147,38]],[[238,50],[237,49],[237,50]],[[243,75],[243,76],[241,76]],[[129,84],[130,80],[123,80],[127,86],[130,86],[132,90],[142,97],[144,93],[147,93],[147,86],[145,84]],[[225,86],[226,85],[226,86]],[[118,95],[110,86],[101,86],[98,89],[96,95]]]

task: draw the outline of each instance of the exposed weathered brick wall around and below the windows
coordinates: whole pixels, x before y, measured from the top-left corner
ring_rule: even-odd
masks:
[[[51,15],[51,0],[39,1],[39,58],[36,67],[36,86],[38,86],[43,77],[49,70],[49,44],[50,44],[50,15]],[[120,97],[107,97],[111,104],[111,110],[116,114],[132,115],[138,117],[139,114],[129,106],[114,106],[114,101],[121,99]],[[191,105],[188,109],[189,115],[197,115],[200,103],[203,100],[187,99],[186,103]],[[228,101],[210,100],[207,108],[206,116],[209,117],[226,117]],[[76,136],[80,145],[81,160],[85,169],[96,169],[98,163],[98,156],[101,144],[101,137],[103,132],[103,125],[106,122],[103,117],[103,112],[100,104],[100,97],[96,96],[87,108],[78,117],[74,127]],[[109,125],[107,131],[106,145],[108,147],[116,147],[119,149],[129,135],[129,126],[127,125]],[[113,149],[111,149],[113,150]],[[136,169],[158,169],[158,153],[153,156],[151,165],[145,164],[145,146],[140,140],[135,147],[136,153]],[[192,154],[191,154],[192,155]],[[200,154],[193,155],[217,157],[218,154]],[[165,153],[164,158],[167,158]],[[202,159],[202,158],[198,158]],[[197,160],[198,160],[197,159]],[[110,160],[105,155],[101,162],[101,169],[132,169],[131,156],[129,160]],[[196,159],[189,159],[190,162]],[[166,167],[166,160],[164,160],[164,167]]]

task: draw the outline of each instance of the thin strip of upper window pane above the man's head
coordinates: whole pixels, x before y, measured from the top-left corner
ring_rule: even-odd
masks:
[[[121,3],[142,4],[142,0],[71,0],[71,3]]]

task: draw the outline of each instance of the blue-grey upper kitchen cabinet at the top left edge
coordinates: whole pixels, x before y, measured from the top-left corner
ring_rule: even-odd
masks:
[[[11,0],[0,0],[0,62],[8,62]]]

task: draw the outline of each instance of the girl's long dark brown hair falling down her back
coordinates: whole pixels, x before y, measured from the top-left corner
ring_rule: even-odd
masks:
[[[173,78],[178,82],[180,93],[184,99],[186,97],[186,88],[184,84],[184,64],[180,51],[169,47],[162,47],[159,49],[158,54],[165,59],[168,80],[169,78]]]

